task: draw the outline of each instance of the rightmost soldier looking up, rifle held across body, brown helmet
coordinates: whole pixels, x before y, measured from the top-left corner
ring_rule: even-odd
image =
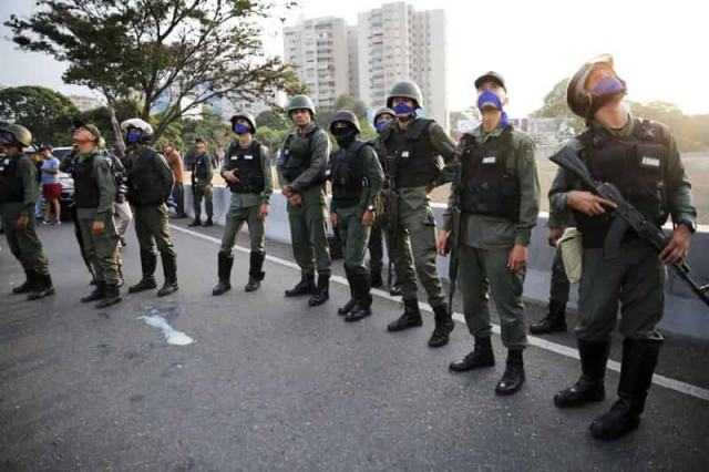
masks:
[[[696,230],[696,209],[677,143],[664,124],[633,116],[623,106],[626,84],[610,55],[584,64],[568,83],[569,109],[586,119],[587,129],[568,146],[586,164],[594,179],[615,184],[623,196],[654,224],[671,214],[675,229],[659,255],[628,229],[617,257],[604,256],[604,242],[617,218],[614,204],[583,186],[559,168],[549,188],[555,211],[573,211],[584,244],[578,288],[578,353],[582,377],[554,397],[559,408],[578,407],[605,398],[604,374],[610,332],[618,316],[623,361],[618,400],[590,423],[598,439],[615,439],[639,425],[653,381],[662,337],[655,330],[665,306],[662,263],[682,261]]]

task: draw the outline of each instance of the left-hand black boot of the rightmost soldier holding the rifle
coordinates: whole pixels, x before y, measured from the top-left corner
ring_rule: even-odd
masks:
[[[610,342],[578,340],[582,376],[572,387],[554,396],[554,404],[558,408],[580,407],[582,404],[603,401],[606,398],[604,379]]]

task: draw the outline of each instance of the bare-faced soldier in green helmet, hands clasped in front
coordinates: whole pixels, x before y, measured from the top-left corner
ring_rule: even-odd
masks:
[[[330,249],[327,237],[325,170],[330,140],[315,122],[315,105],[306,95],[288,103],[288,117],[296,125],[278,156],[278,179],[288,198],[288,222],[292,252],[300,266],[300,281],[286,290],[286,297],[312,295],[311,307],[330,297]],[[318,285],[315,285],[315,269]]]

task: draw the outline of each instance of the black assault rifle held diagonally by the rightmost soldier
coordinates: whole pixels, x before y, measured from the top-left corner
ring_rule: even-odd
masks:
[[[590,176],[588,168],[578,158],[578,156],[568,147],[564,146],[559,152],[549,157],[549,161],[573,173],[578,177],[593,193],[602,198],[608,199],[617,205],[615,208],[616,218],[610,225],[605,242],[605,256],[613,258],[618,255],[620,240],[628,228],[633,228],[640,239],[647,243],[654,252],[661,253],[667,246],[667,237],[662,229],[648,222],[647,218],[638,212],[615,185],[608,182],[596,182]],[[689,275],[691,267],[687,263],[675,263],[671,265],[679,277],[681,277],[692,291],[697,294],[701,300],[709,305],[709,285],[698,285]]]

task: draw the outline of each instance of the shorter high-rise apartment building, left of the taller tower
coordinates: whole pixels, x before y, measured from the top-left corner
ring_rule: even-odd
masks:
[[[349,93],[348,29],[341,18],[299,20],[284,29],[284,59],[297,64],[298,79],[316,106],[332,106]]]

